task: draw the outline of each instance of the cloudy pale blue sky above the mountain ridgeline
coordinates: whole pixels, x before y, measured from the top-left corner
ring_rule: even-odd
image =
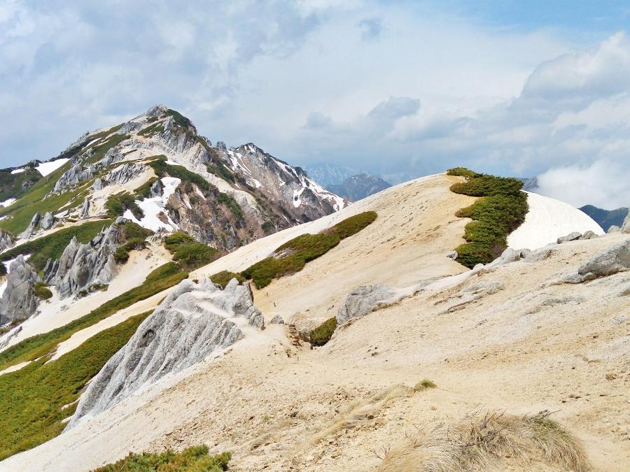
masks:
[[[630,204],[620,1],[0,0],[0,165],[155,103],[393,183],[465,165]]]

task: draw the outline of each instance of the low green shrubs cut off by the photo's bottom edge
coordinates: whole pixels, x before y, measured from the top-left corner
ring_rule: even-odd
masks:
[[[141,452],[130,454],[114,464],[107,464],[94,472],[221,472],[228,470],[230,452],[209,455],[205,445],[193,446],[181,452],[166,450],[160,454]]]

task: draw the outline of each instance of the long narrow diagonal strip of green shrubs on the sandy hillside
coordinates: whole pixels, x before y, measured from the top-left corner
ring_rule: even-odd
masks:
[[[253,280],[256,288],[267,287],[274,278],[286,276],[304,269],[304,265],[335,248],[342,239],[358,233],[376,220],[374,211],[366,211],[346,218],[319,234],[302,234],[284,243],[272,257],[262,259],[241,274]]]

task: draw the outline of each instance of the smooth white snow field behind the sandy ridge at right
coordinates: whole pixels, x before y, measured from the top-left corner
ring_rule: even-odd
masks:
[[[599,235],[605,232],[589,215],[568,203],[532,192],[526,194],[529,211],[525,222],[507,236],[510,248],[535,250],[573,231],[593,231]]]

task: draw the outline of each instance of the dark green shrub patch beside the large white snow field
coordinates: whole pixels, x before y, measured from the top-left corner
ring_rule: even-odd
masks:
[[[468,243],[456,248],[457,262],[471,269],[479,263],[488,264],[507,248],[507,235],[525,221],[528,206],[527,194],[521,192],[523,183],[461,167],[447,173],[466,178],[465,182],[451,185],[452,192],[481,197],[456,213],[475,220],[466,224],[464,239]]]

